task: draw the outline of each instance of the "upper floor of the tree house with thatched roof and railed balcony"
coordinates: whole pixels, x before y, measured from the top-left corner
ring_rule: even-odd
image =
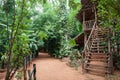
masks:
[[[81,0],[82,8],[77,14],[77,19],[83,24],[83,30],[89,32],[95,22],[95,5],[91,0]]]

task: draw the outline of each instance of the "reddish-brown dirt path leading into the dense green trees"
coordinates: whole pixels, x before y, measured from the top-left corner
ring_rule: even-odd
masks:
[[[82,74],[81,68],[77,71],[66,65],[66,62],[51,58],[47,53],[39,53],[32,64],[37,67],[37,80],[104,80],[103,77]]]

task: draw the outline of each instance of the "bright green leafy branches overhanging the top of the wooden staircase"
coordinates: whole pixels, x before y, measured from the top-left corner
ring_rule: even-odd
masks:
[[[99,23],[106,27],[118,28],[120,25],[119,0],[104,0],[98,3]],[[112,6],[111,6],[112,5]]]

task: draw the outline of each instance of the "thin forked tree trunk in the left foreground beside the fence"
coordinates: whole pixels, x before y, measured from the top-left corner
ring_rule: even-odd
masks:
[[[13,25],[12,25],[12,32],[11,32],[11,36],[10,36],[10,40],[9,40],[9,50],[8,50],[8,62],[7,62],[7,73],[6,73],[6,77],[5,77],[5,80],[10,80],[10,75],[11,75],[11,60],[12,60],[12,50],[13,50],[13,45],[14,45],[14,40],[15,40],[15,37],[18,33],[18,30],[19,30],[19,27],[20,27],[20,23],[22,22],[22,19],[23,19],[23,10],[24,10],[24,3],[25,3],[25,0],[23,0],[22,2],[22,6],[21,6],[21,15],[20,15],[20,19],[19,19],[19,22],[18,22],[18,25],[17,25],[17,29],[16,29],[16,32],[14,33],[14,27],[15,27],[15,1],[14,1],[14,18],[13,18]],[[8,14],[8,13],[7,13]],[[8,15],[7,15],[7,19],[8,19]],[[8,20],[7,20],[8,22]],[[8,25],[7,25],[8,26]]]

